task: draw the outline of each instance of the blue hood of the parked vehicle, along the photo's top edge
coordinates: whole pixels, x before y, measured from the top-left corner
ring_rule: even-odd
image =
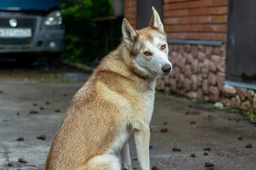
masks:
[[[45,10],[59,6],[59,0],[1,0],[0,3],[2,10]]]

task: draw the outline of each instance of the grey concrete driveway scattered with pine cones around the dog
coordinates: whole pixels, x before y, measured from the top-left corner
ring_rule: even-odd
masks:
[[[0,74],[0,90],[3,92],[0,94],[2,170],[43,169],[70,100],[84,83],[79,80],[41,83],[40,74],[24,82],[25,77]],[[30,110],[38,113],[30,114]],[[205,163],[209,162],[214,164],[215,170],[256,170],[256,127],[243,119],[235,121],[238,117],[215,109],[208,110],[205,104],[183,97],[157,92],[150,125],[151,168],[204,170]],[[196,123],[190,124],[191,121]],[[167,131],[161,132],[162,128],[167,128]],[[46,139],[37,139],[40,135],[46,135]],[[238,135],[243,135],[243,140],[238,140]],[[23,137],[24,141],[17,141],[19,137]],[[252,144],[252,148],[245,148],[248,143]],[[173,147],[181,151],[173,151]],[[206,147],[211,148],[208,156],[204,155],[203,148]],[[191,157],[191,153],[195,153],[195,157]],[[136,157],[133,139],[130,141],[130,154],[132,167],[139,169],[138,161],[133,159]],[[24,158],[27,163],[19,163],[18,158]],[[12,166],[8,166],[8,162],[12,162]]]

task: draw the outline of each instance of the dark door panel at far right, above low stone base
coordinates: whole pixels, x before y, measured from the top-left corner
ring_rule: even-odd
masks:
[[[229,0],[226,78],[256,84],[256,0]]]

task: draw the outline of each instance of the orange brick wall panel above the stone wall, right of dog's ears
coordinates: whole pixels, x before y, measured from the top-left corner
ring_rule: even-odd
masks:
[[[164,0],[168,39],[226,40],[228,0]]]

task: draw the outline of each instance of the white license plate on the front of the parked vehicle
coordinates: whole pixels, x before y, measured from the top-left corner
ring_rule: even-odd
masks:
[[[0,28],[0,37],[29,38],[31,36],[30,28]]]

